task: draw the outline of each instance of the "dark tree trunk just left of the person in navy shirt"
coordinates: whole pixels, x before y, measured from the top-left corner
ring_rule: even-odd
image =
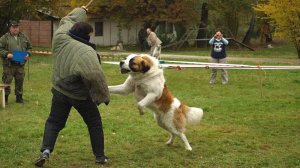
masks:
[[[199,30],[197,34],[196,39],[204,39],[207,38],[207,22],[208,22],[208,8],[207,8],[207,3],[202,4],[202,11],[201,11],[201,20],[199,24]],[[206,47],[207,46],[207,41],[197,41],[197,47]]]

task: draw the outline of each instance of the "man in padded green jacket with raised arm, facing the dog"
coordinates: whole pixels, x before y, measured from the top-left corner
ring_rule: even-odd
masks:
[[[61,19],[53,36],[53,96],[45,124],[42,153],[35,161],[38,167],[42,167],[49,159],[72,107],[88,127],[96,163],[105,164],[108,161],[104,154],[104,134],[97,106],[100,103],[108,105],[110,96],[96,46],[89,42],[93,28],[83,22],[87,18],[86,12],[84,6],[74,9]],[[76,145],[80,145],[80,142]]]

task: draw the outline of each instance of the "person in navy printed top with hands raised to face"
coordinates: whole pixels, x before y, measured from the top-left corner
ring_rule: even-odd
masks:
[[[209,44],[212,45],[211,62],[226,64],[226,45],[228,45],[228,41],[225,38],[223,38],[223,34],[220,31],[216,32],[214,37],[209,40]],[[225,85],[228,83],[228,74],[225,69],[221,70],[222,84]],[[216,77],[217,69],[213,68],[209,83],[216,83]]]

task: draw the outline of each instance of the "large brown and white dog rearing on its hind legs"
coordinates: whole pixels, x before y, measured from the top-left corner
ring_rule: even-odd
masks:
[[[180,137],[187,150],[192,150],[184,131],[188,124],[197,124],[203,116],[203,110],[188,107],[175,98],[165,85],[163,70],[159,61],[146,54],[131,54],[120,62],[121,73],[129,77],[121,85],[109,86],[110,93],[127,95],[134,92],[140,114],[145,108],[154,112],[160,127],[170,132],[167,144]]]

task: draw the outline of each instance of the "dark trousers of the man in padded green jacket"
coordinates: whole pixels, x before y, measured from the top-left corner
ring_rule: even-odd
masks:
[[[96,157],[104,156],[104,135],[99,110],[91,99],[75,100],[52,89],[52,106],[45,124],[45,132],[41,151],[49,149],[51,152],[59,132],[65,127],[70,110],[74,107],[86,123],[90,140]]]

